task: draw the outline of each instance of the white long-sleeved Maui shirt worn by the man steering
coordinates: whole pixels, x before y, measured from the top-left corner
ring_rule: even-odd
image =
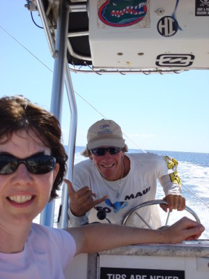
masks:
[[[130,172],[121,181],[118,197],[116,197],[116,190],[120,179],[117,181],[104,180],[90,160],[84,160],[75,165],[72,180],[74,190],[77,191],[88,186],[96,194],[96,199],[100,199],[104,195],[108,195],[108,198],[83,217],[73,216],[68,210],[69,226],[83,225],[87,221],[89,223],[101,222],[96,217],[99,210],[106,212],[111,223],[121,224],[125,214],[134,206],[155,199],[157,179],[160,181],[165,195],[180,195],[179,184],[173,182],[170,177],[173,172],[176,172],[177,165],[173,164],[173,167],[170,168],[165,158],[155,153],[125,153],[125,156],[130,159]],[[151,208],[146,206],[140,209],[139,213],[151,227],[161,226],[156,206]],[[137,216],[130,218],[127,225],[147,228]]]

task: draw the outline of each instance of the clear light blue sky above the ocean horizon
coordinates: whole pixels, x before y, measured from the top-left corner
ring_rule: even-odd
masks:
[[[50,108],[54,59],[43,29],[33,24],[26,1],[0,3],[0,96],[22,94]],[[42,25],[37,13],[33,13]],[[51,69],[49,70],[42,63]],[[107,119],[121,125],[130,149],[209,153],[208,70],[169,75],[72,74],[74,90]],[[77,146],[86,145],[92,123],[103,117],[75,94],[78,110]],[[64,144],[68,142],[70,110],[63,100]],[[134,144],[133,144],[134,142]]]

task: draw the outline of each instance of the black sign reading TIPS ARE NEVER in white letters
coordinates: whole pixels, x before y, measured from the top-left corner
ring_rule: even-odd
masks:
[[[100,279],[185,279],[185,271],[100,267]]]

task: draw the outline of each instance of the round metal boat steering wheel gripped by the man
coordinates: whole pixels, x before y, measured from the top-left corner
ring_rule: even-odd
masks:
[[[144,220],[144,218],[142,216],[140,216],[140,214],[137,212],[138,209],[141,209],[141,207],[144,206],[150,206],[153,204],[167,204],[166,201],[164,201],[163,199],[154,199],[154,200],[150,200],[148,202],[143,202],[142,204],[138,204],[137,206],[134,206],[133,209],[131,209],[126,215],[125,218],[123,219],[123,225],[126,225],[127,220],[130,218],[130,216],[132,216],[132,214],[136,214],[147,226],[149,229],[153,229],[153,227],[151,227],[146,220]],[[196,215],[196,213],[189,208],[189,206],[185,206],[185,210],[188,211],[190,214],[192,214],[192,216],[195,218],[197,223],[201,223],[199,220],[199,217]],[[167,220],[166,223],[163,227],[168,227],[168,222],[169,222],[169,217],[170,217],[170,212],[167,215]]]

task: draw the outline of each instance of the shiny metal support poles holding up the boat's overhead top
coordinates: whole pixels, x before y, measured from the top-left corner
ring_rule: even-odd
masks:
[[[37,0],[39,6],[42,7],[42,1]],[[75,95],[72,87],[72,81],[70,77],[70,70],[68,69],[68,63],[66,62],[67,52],[67,34],[68,34],[68,14],[69,9],[65,5],[66,1],[59,1],[59,16],[57,21],[56,29],[56,44],[53,47],[52,38],[50,36],[49,28],[45,20],[45,13],[40,8],[39,13],[42,19],[49,48],[54,53],[54,74],[52,83],[52,100],[51,100],[51,112],[61,122],[61,111],[63,105],[63,87],[64,82],[66,91],[68,93],[68,100],[70,105],[70,133],[68,142],[68,173],[67,177],[72,180],[72,167],[74,162],[75,153],[75,135],[77,130],[77,107],[75,103]],[[45,24],[44,24],[45,22]],[[54,51],[53,51],[54,50]],[[65,66],[66,65],[66,66]],[[66,187],[63,188],[62,195],[62,212],[59,227],[65,228],[67,226],[67,207],[68,207],[68,190]],[[45,209],[40,214],[40,224],[53,226],[54,223],[54,201],[49,202]]]

